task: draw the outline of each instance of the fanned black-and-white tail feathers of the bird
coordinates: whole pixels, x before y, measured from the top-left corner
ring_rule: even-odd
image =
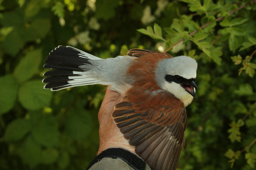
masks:
[[[87,76],[87,70],[79,66],[92,64],[88,60],[100,60],[91,54],[83,52],[70,46],[58,46],[52,50],[45,60],[44,68],[55,69],[44,73],[46,77],[42,80],[47,83],[44,88],[51,91],[61,90],[69,87],[98,84],[98,80]]]

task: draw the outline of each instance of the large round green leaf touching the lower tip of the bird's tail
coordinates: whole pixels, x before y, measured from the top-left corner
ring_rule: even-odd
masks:
[[[41,80],[26,82],[19,89],[19,102],[28,110],[38,110],[48,106],[52,91],[43,89]]]

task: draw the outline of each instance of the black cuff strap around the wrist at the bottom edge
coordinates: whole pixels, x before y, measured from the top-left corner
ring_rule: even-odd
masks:
[[[108,148],[96,156],[86,170],[103,158],[120,158],[136,170],[144,170],[146,167],[146,162],[130,151],[123,148]]]

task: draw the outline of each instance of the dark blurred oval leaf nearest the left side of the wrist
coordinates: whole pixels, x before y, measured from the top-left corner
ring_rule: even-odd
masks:
[[[66,133],[72,139],[82,140],[90,134],[92,130],[91,116],[86,110],[71,110],[66,121]]]

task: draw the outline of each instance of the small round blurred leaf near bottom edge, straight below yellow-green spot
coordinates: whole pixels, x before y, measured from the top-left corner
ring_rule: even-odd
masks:
[[[44,164],[54,163],[59,156],[59,152],[56,149],[49,148],[42,151],[41,162]]]

